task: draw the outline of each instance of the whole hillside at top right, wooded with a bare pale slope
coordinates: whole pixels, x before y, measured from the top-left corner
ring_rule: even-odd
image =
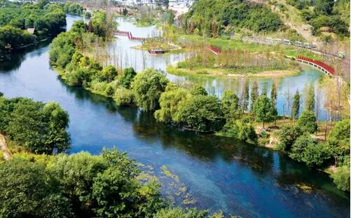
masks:
[[[200,0],[181,15],[186,33],[264,35],[320,43],[349,38],[350,0]]]

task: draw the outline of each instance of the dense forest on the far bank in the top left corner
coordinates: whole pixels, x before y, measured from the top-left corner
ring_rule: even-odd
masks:
[[[0,51],[21,48],[52,37],[64,30],[66,15],[83,15],[85,11],[76,3],[50,4],[38,1],[37,4],[8,4],[0,8]],[[34,32],[28,32],[34,28]]]

